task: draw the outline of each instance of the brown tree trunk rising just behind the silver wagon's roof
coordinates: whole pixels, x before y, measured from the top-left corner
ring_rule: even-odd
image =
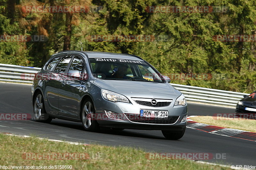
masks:
[[[64,46],[63,50],[70,50],[70,41],[71,41],[71,33],[72,33],[72,26],[71,26],[71,20],[72,20],[73,14],[68,12],[66,13],[66,35],[64,36]]]

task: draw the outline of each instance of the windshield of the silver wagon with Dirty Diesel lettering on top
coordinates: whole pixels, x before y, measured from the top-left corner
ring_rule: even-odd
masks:
[[[94,77],[109,80],[164,81],[159,73],[141,60],[119,58],[90,58]]]

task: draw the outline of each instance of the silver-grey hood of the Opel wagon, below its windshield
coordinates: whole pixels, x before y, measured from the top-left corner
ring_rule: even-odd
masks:
[[[151,94],[167,94],[180,96],[181,92],[172,87],[169,83],[156,83],[144,81],[126,81],[126,80],[103,80],[94,79],[94,84],[103,89],[113,92],[134,92],[134,93],[151,93]]]

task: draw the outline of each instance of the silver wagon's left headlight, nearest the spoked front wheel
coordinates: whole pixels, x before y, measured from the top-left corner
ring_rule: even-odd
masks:
[[[129,100],[122,94],[118,94],[116,92],[111,92],[109,90],[101,89],[101,94],[104,97],[104,99],[117,102],[117,101],[122,101],[122,102],[127,102],[129,103]]]

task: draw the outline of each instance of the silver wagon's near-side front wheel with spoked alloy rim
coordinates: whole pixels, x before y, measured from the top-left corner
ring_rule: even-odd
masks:
[[[100,125],[97,120],[93,120],[95,114],[94,105],[91,99],[86,99],[81,109],[81,121],[86,131],[97,132],[100,130]]]

